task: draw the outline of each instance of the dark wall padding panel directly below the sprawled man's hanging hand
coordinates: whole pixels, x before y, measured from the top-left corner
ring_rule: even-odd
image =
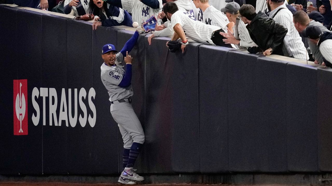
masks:
[[[166,43],[165,43],[166,44]],[[172,81],[172,167],[174,172],[200,171],[198,104],[199,43],[192,42],[176,53],[169,52],[167,64],[173,68]],[[162,45],[161,45],[162,46]],[[186,91],[190,90],[190,91]],[[184,137],[184,134],[187,137]]]

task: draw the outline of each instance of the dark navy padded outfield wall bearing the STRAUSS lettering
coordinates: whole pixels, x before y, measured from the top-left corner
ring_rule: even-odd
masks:
[[[133,31],[3,5],[0,16],[0,174],[119,173],[101,48]],[[331,69],[147,38],[130,52],[139,173],[332,171]]]

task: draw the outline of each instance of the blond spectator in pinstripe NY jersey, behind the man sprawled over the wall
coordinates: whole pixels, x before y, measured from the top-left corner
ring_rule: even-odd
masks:
[[[227,17],[219,10],[208,4],[208,0],[194,0],[196,8],[203,11],[203,22],[218,26],[227,32],[227,28],[233,33],[233,22],[229,22]]]

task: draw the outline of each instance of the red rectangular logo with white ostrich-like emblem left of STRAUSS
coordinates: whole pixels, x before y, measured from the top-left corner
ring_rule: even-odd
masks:
[[[28,135],[28,80],[14,80],[13,90],[14,135]]]

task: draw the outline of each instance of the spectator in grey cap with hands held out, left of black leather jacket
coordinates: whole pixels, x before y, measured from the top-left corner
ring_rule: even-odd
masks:
[[[233,0],[230,0],[233,1]],[[227,0],[226,0],[227,2]],[[240,20],[239,10],[240,1],[236,0],[236,2],[228,2],[224,8],[221,9],[221,12],[224,12],[226,17],[230,22],[234,22],[235,26],[233,27],[234,33],[223,33],[220,34],[224,36],[226,39],[223,39],[225,43],[238,45],[239,49],[247,49],[248,47],[257,46],[254,41],[250,38],[248,29],[246,28],[246,24]]]

